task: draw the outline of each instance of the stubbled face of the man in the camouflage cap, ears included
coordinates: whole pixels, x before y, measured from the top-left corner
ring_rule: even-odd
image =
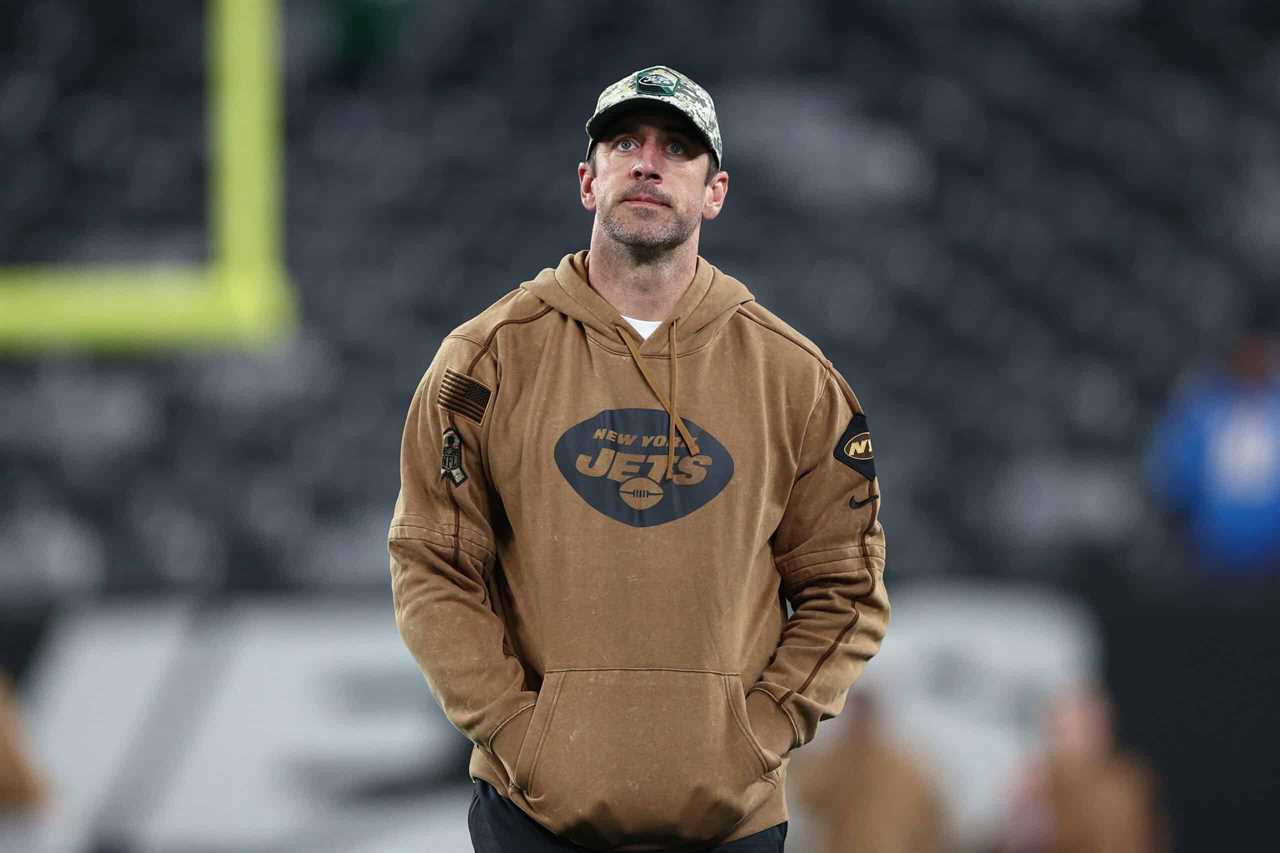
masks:
[[[618,119],[596,142],[594,163],[579,165],[582,206],[604,233],[636,250],[666,252],[681,246],[703,219],[724,204],[728,174],[714,172],[713,156],[687,120],[664,110]]]

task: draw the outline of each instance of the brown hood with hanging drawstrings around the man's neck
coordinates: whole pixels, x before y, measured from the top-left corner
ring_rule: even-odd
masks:
[[[622,314],[591,287],[588,268],[588,251],[577,251],[561,259],[556,269],[544,269],[522,287],[557,311],[580,321],[588,337],[604,348],[631,356],[649,389],[667,411],[666,476],[672,479],[676,471],[677,432],[689,452],[692,456],[699,453],[698,441],[680,418],[680,353],[689,355],[709,343],[733,316],[737,306],[751,302],[755,297],[745,284],[699,255],[694,279],[676,302],[671,316],[648,338],[641,338]],[[655,357],[667,361],[669,394],[663,393],[645,365],[645,360]]]

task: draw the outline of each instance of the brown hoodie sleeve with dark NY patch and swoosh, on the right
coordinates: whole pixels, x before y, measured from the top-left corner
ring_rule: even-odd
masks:
[[[840,713],[888,625],[874,466],[867,416],[828,364],[773,534],[773,560],[794,612],[746,697],[753,731],[780,756],[809,743],[819,721]]]

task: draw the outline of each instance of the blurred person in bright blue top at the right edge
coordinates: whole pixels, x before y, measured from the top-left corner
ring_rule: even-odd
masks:
[[[1147,475],[1213,575],[1280,569],[1280,371],[1275,306],[1256,305],[1225,364],[1193,377],[1156,425]]]

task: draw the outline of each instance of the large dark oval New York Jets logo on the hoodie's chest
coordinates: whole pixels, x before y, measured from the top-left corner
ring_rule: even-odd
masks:
[[[728,484],[733,459],[714,435],[684,419],[698,455],[676,434],[667,476],[667,412],[608,409],[570,426],[556,442],[556,466],[593,508],[635,528],[675,521]]]

